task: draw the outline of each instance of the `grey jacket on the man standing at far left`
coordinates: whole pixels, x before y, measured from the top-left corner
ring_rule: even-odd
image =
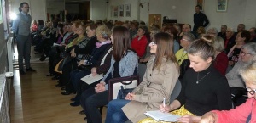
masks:
[[[30,14],[25,15],[21,12],[20,14],[17,14],[17,19],[14,21],[14,25],[12,29],[17,35],[29,36],[31,22],[32,22],[32,19]]]

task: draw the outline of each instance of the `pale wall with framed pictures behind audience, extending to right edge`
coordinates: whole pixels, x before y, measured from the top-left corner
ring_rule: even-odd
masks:
[[[110,6],[131,3],[131,17],[110,17]],[[144,3],[143,8],[137,8],[139,3]],[[148,11],[149,3],[149,11]],[[148,23],[148,14],[162,14],[169,19],[177,19],[178,23],[193,23],[195,14],[195,0],[110,0],[108,4],[108,20],[143,20]],[[240,23],[249,29],[256,25],[255,14],[256,0],[228,0],[226,12],[217,12],[217,0],[205,0],[204,11],[210,25],[207,27],[220,28],[228,25],[234,28]],[[139,16],[139,17],[137,17]]]

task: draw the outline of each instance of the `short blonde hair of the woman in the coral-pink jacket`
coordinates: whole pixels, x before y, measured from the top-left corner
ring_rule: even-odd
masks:
[[[251,82],[250,84],[256,85],[256,62],[255,61],[245,64],[239,73],[243,81],[247,81],[247,82],[250,81]]]

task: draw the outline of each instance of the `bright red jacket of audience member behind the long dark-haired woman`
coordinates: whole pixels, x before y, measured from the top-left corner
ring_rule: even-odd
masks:
[[[138,36],[136,36],[131,41],[131,48],[134,49],[141,58],[146,53],[147,44],[148,40],[146,36],[143,36],[140,40],[138,40]]]

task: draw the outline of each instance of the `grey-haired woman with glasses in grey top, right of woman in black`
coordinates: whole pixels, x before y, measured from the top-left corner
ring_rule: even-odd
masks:
[[[226,74],[226,78],[230,85],[230,91],[232,94],[232,99],[236,106],[244,103],[246,98],[242,99],[241,96],[246,92],[246,88],[241,75],[239,75],[239,70],[247,63],[256,60],[256,43],[249,42],[241,47],[241,60],[239,60],[235,66]],[[241,98],[238,100],[238,98]]]

